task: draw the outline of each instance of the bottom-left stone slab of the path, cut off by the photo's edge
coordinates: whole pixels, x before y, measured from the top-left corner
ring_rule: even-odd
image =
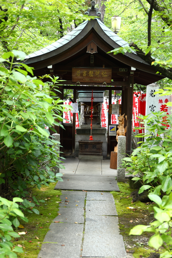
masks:
[[[38,258],[80,258],[80,245],[42,244]]]

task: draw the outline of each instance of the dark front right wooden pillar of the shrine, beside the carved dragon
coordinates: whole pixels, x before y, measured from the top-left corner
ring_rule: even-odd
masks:
[[[126,139],[126,154],[131,155],[132,149],[132,119],[133,119],[133,83],[134,76],[128,76],[127,90],[127,139]]]

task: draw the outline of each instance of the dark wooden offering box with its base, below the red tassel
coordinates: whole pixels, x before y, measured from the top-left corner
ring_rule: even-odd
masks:
[[[103,159],[102,144],[103,141],[78,141],[79,159]]]

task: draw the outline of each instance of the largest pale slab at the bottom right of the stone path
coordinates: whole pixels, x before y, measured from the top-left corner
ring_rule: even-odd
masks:
[[[117,217],[86,215],[82,257],[126,257]]]

